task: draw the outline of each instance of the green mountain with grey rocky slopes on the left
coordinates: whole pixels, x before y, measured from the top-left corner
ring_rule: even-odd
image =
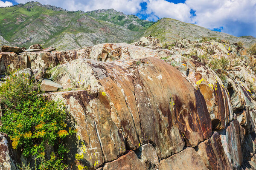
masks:
[[[17,46],[39,43],[44,47],[73,49],[104,42],[134,42],[152,23],[112,9],[104,10],[104,15],[111,17],[103,20],[96,15],[100,13],[65,11],[38,2],[0,8],[0,35]]]

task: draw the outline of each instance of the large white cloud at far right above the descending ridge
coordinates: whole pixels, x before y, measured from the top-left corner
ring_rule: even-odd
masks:
[[[195,10],[192,22],[236,36],[256,36],[256,0],[186,0]]]

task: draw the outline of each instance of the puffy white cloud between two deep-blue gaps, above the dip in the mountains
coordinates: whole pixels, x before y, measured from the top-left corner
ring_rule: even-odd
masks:
[[[184,3],[170,3],[166,0],[147,0],[146,12],[150,14],[150,18],[154,19],[169,17],[183,22],[190,22],[190,8]]]

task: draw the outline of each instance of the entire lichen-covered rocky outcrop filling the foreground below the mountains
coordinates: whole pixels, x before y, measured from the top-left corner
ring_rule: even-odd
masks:
[[[31,68],[63,87],[44,96],[64,102],[77,129],[66,140],[73,169],[256,169],[255,57],[229,42],[181,40],[163,49],[145,40],[2,52],[0,71]],[[8,165],[25,161],[2,150]]]

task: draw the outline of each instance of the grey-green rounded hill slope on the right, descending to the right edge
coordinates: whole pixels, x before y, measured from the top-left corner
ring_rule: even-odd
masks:
[[[163,18],[148,28],[145,31],[144,36],[149,35],[157,37],[161,42],[170,42],[182,38],[186,38],[188,40],[198,40],[202,37],[216,37],[220,38],[221,40],[229,40],[232,43],[241,41],[244,42],[245,46],[256,42],[256,38],[247,39],[243,37],[235,37],[230,34],[211,31],[201,26],[183,23],[170,18]]]

